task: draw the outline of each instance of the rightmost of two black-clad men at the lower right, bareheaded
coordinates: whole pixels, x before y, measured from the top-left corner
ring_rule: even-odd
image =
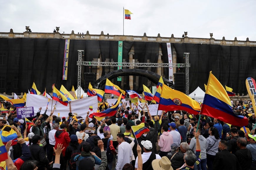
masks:
[[[252,153],[246,148],[247,140],[243,137],[237,139],[237,146],[240,148],[235,153],[237,160],[239,161],[242,169],[250,169],[252,164]]]

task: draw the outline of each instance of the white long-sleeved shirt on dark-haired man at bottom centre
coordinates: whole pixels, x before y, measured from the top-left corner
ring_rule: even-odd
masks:
[[[132,149],[130,147],[130,144],[127,142],[122,142],[121,144],[119,144],[116,170],[123,169],[125,164],[129,164],[130,157],[132,157]]]

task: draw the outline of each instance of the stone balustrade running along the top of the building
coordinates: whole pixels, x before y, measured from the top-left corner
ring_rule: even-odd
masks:
[[[23,33],[14,33],[11,29],[9,33],[0,32],[0,38],[58,38],[58,39],[73,39],[73,40],[113,40],[113,41],[143,41],[143,42],[157,42],[157,43],[194,43],[194,44],[216,44],[216,45],[229,45],[229,46],[256,46],[256,41],[249,41],[247,38],[245,41],[237,40],[217,40],[212,38],[191,38],[185,36],[184,38],[175,38],[172,34],[171,37],[161,37],[160,34],[157,37],[148,37],[146,33],[143,36],[133,35],[104,35],[103,31],[99,35],[91,35],[89,31],[86,34],[61,34],[56,33],[34,33],[25,31]]]

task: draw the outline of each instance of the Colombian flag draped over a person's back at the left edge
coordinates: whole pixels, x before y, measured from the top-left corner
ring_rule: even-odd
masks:
[[[4,143],[4,145],[6,145],[7,142],[12,140],[11,145],[17,144],[17,141],[14,141],[14,140],[17,140],[17,138],[18,138],[17,133],[13,129],[11,129],[9,132],[4,131],[4,128],[6,128],[6,127],[11,127],[11,126],[10,125],[5,125],[3,127],[3,129],[0,131],[2,142]]]

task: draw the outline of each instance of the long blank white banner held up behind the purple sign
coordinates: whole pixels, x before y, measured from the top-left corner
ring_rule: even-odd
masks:
[[[46,112],[47,115],[51,114],[51,101],[49,101],[48,104],[48,110]],[[36,95],[36,94],[27,94],[26,99],[26,106],[33,106],[34,107],[34,113],[36,114],[40,107],[42,107],[41,114],[44,113],[45,108],[48,103],[48,98]],[[53,101],[53,106],[55,105],[56,101]],[[83,118],[86,117],[87,112],[90,113],[97,112],[98,108],[98,98],[97,96],[87,97],[87,98],[81,98],[77,100],[70,101],[71,105],[71,112],[77,113],[78,116],[82,116]],[[93,110],[89,110],[89,106],[92,106]],[[69,113],[69,104],[68,106],[64,106],[61,103],[57,102],[55,106],[56,110],[54,110],[54,114],[58,117],[68,117]],[[53,109],[53,108],[52,108]]]

